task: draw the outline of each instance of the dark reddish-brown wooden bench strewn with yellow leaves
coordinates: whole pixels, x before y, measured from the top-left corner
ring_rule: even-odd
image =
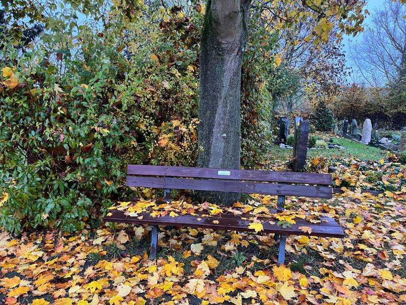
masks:
[[[164,197],[169,200],[171,189],[277,195],[277,210],[272,210],[273,213],[284,210],[285,196],[331,198],[331,185],[331,174],[152,165],[128,165],[126,179],[128,187],[164,189]],[[154,259],[157,252],[158,226],[254,231],[248,228],[251,222],[244,220],[244,215],[235,216],[231,213],[210,217],[166,215],[157,218],[151,217],[149,213],[131,217],[115,209],[109,215],[104,221],[151,226],[150,259]],[[296,219],[291,228],[282,228],[266,220],[269,219],[263,219],[263,232],[274,233],[275,239],[279,239],[279,263],[284,263],[286,237],[289,235],[344,237],[340,225],[328,217],[322,217],[321,222],[316,224]],[[302,232],[299,227],[303,226],[310,227],[311,233]]]

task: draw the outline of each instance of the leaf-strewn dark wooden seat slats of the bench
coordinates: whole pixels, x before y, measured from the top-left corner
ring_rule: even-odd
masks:
[[[178,217],[163,216],[154,218],[151,217],[148,213],[140,213],[139,216],[142,216],[142,219],[136,217],[130,217],[124,215],[123,211],[111,210],[112,216],[104,218],[105,222],[121,222],[128,224],[148,224],[148,225],[157,225],[157,226],[176,226],[176,227],[190,227],[190,228],[208,228],[215,230],[230,230],[230,231],[254,231],[248,229],[251,221],[243,220],[241,218],[223,218],[218,216],[212,217],[201,217],[201,216],[192,216],[184,215]],[[200,220],[198,220],[200,219]],[[259,218],[258,218],[259,219]],[[261,221],[266,221],[268,219],[260,219]],[[218,224],[213,223],[213,221],[218,221]],[[329,223],[335,223],[334,220],[329,220]],[[307,226],[312,229],[312,233],[304,233],[299,230],[299,227]],[[263,223],[263,233],[275,233],[280,235],[310,235],[310,236],[323,236],[323,237],[344,237],[343,229],[339,224],[335,223],[335,226],[332,225],[323,225],[313,224],[308,221],[296,222],[292,225],[292,228],[281,228],[276,224],[270,224],[269,222]]]

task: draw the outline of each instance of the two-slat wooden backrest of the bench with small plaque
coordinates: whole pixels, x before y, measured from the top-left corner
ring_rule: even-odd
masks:
[[[317,198],[331,198],[331,184],[331,174],[155,165],[128,165],[126,181],[128,187]]]

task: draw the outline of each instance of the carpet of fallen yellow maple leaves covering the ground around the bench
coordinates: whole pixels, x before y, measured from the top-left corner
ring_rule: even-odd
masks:
[[[329,200],[291,197],[286,208],[327,213],[346,237],[290,236],[286,266],[276,264],[273,235],[261,232],[161,228],[154,261],[147,226],[3,232],[0,303],[404,304],[406,167],[357,160],[337,167],[336,179],[352,181],[352,190]],[[381,195],[360,193],[377,182],[387,187]],[[276,206],[276,197],[253,197],[256,208]]]

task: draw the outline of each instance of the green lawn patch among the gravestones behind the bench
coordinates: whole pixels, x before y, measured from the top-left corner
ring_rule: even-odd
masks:
[[[360,160],[379,160],[385,157],[386,151],[381,150],[376,147],[360,144],[354,141],[351,141],[346,138],[341,138],[327,133],[317,133],[320,138],[333,138],[334,144],[338,144],[346,147],[346,150],[334,149],[317,149],[317,150],[308,150],[308,158],[314,158],[317,156],[324,156],[333,159],[349,158],[354,157]],[[281,149],[279,146],[275,145],[269,151],[269,162],[276,163],[277,161],[288,161],[289,158],[292,158],[291,149]]]

